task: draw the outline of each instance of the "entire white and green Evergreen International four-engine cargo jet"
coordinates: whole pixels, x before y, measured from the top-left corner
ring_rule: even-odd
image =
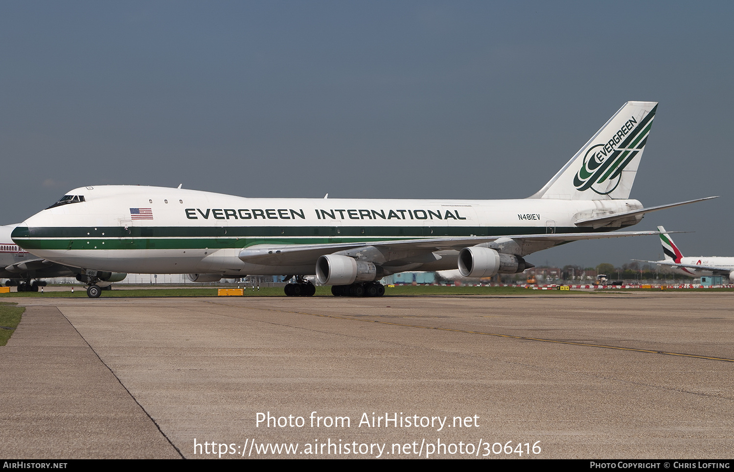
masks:
[[[113,272],[188,273],[195,281],[286,275],[288,295],[379,296],[408,270],[490,277],[532,267],[525,257],[580,239],[657,234],[608,231],[650,211],[629,200],[655,102],[626,103],[556,175],[519,200],[245,198],[153,186],[87,186],[27,219],[12,239],[82,268],[87,294]],[[713,197],[711,197],[713,198]]]

